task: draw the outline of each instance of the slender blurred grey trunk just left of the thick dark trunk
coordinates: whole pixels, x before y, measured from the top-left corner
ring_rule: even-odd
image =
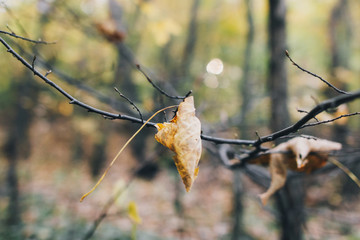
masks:
[[[244,52],[244,63],[243,63],[243,77],[240,85],[240,92],[242,96],[242,105],[240,109],[240,132],[241,137],[246,139],[247,129],[248,129],[248,120],[246,116],[250,110],[251,106],[251,76],[250,76],[250,64],[252,57],[252,45],[254,42],[254,20],[252,13],[252,5],[250,0],[245,1],[247,9],[247,23],[248,23],[248,32],[246,37],[246,46]],[[245,230],[243,228],[243,187],[242,187],[242,176],[241,171],[234,170],[233,177],[233,229],[232,229],[232,240],[245,239],[247,237]],[[249,238],[249,237],[248,237]],[[250,238],[249,238],[250,239]]]

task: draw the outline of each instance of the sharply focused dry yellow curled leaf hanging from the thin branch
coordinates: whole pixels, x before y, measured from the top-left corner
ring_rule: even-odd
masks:
[[[196,179],[201,156],[201,123],[195,116],[194,98],[180,103],[170,122],[156,124],[155,139],[175,152],[174,161],[187,192]]]

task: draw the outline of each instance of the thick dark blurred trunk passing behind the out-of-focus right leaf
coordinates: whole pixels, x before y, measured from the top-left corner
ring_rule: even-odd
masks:
[[[271,131],[277,131],[290,124],[288,112],[286,73],[286,5],[285,0],[269,0],[269,76],[268,86],[271,99]],[[275,195],[279,213],[281,238],[302,239],[304,223],[304,188],[301,179],[287,181],[284,188]]]

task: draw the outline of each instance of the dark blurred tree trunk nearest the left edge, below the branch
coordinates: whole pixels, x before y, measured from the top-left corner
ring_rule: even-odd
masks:
[[[6,216],[6,225],[18,233],[21,226],[21,204],[19,192],[19,177],[17,173],[18,161],[30,155],[29,129],[32,120],[32,109],[38,99],[38,87],[27,80],[28,75],[13,81],[13,96],[16,106],[12,113],[7,115],[9,120],[8,135],[4,145],[4,153],[8,160],[7,188],[9,203]]]

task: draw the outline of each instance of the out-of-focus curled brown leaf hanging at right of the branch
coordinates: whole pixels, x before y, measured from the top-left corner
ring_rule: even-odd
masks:
[[[270,187],[260,194],[263,205],[280,188],[285,185],[287,169],[310,173],[323,167],[329,157],[329,152],[340,150],[341,144],[324,139],[296,137],[281,143],[260,157],[254,163],[269,163],[271,174]]]

